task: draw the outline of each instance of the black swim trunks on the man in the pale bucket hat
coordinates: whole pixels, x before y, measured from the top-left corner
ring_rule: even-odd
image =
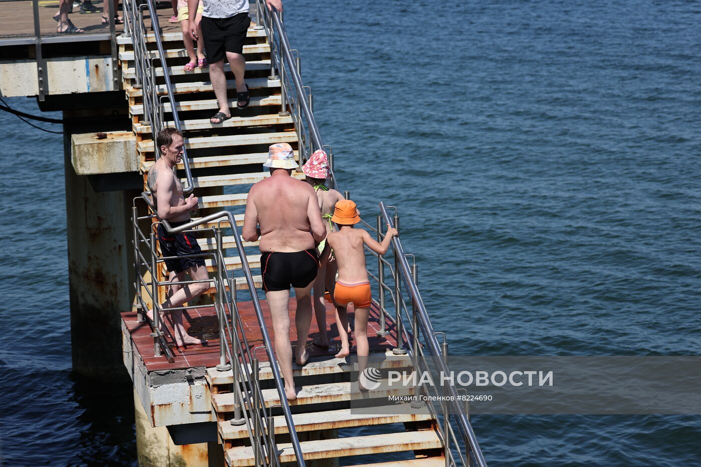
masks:
[[[314,281],[318,269],[315,248],[291,253],[265,252],[261,255],[263,290],[290,290],[290,285],[303,289]]]

